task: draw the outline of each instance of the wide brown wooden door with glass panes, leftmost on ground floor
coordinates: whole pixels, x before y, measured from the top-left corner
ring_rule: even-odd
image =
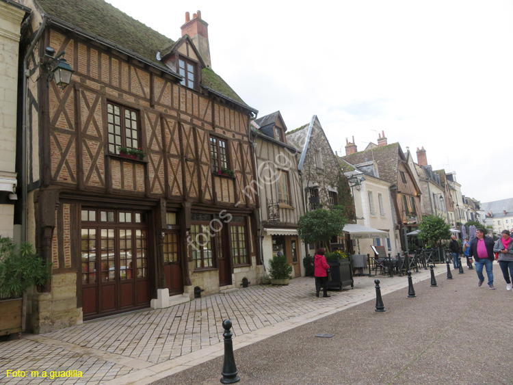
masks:
[[[148,307],[150,258],[144,214],[86,211],[90,213],[82,211],[81,223],[83,319]]]

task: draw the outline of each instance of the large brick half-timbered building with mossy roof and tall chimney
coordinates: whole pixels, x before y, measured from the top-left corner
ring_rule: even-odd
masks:
[[[103,1],[22,3],[34,43],[25,227],[53,263],[29,298],[32,330],[256,283],[257,196],[245,187],[257,111],[212,70],[200,12],[175,42]],[[75,71],[64,89],[46,47]]]

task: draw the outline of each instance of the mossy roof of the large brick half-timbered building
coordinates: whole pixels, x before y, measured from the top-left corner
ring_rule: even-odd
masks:
[[[113,5],[103,0],[35,0],[35,3],[40,8],[40,12],[49,16],[51,21],[64,21],[64,24],[61,24],[69,29],[79,33],[83,30],[98,36],[116,48],[130,51],[138,59],[146,59],[145,61],[149,64],[179,76],[157,60],[157,51],[169,51],[175,42]],[[258,112],[244,103],[240,96],[211,68],[203,68],[201,75],[203,88],[228,98],[250,111]]]

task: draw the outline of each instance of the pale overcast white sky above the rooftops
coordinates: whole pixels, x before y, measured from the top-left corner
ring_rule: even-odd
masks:
[[[200,10],[213,70],[259,117],[290,131],[315,114],[339,154],[384,131],[465,196],[513,197],[513,1],[109,3],[172,40]]]

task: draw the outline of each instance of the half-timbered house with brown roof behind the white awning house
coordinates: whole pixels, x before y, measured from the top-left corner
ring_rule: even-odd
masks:
[[[395,215],[395,238],[401,240],[406,250],[405,233],[416,230],[422,220],[421,189],[399,143],[387,144],[386,137],[380,134],[378,145],[371,144],[360,152],[348,152],[343,157],[353,165],[372,162],[377,168],[380,178],[391,183],[391,196]],[[355,147],[356,150],[356,147]]]

